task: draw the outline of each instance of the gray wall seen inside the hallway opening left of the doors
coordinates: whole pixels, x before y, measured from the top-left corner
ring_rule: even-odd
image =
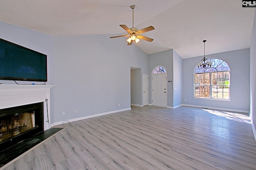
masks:
[[[131,70],[131,104],[142,106],[141,68]]]

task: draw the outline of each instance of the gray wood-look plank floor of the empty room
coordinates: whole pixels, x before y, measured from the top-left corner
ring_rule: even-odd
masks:
[[[4,170],[255,170],[249,117],[154,106],[58,125],[54,137]]]

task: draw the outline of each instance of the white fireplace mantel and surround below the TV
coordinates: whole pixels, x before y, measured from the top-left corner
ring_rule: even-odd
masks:
[[[44,102],[44,130],[50,129],[50,88],[53,86],[54,85],[0,84],[0,109]],[[49,120],[49,122],[47,122],[47,120]]]

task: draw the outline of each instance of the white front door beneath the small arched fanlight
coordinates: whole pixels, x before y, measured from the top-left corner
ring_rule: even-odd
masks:
[[[152,75],[152,105],[166,107],[166,74]]]

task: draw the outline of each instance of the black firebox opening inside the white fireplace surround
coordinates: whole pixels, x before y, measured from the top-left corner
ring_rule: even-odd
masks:
[[[44,103],[0,109],[0,150],[44,131]]]

